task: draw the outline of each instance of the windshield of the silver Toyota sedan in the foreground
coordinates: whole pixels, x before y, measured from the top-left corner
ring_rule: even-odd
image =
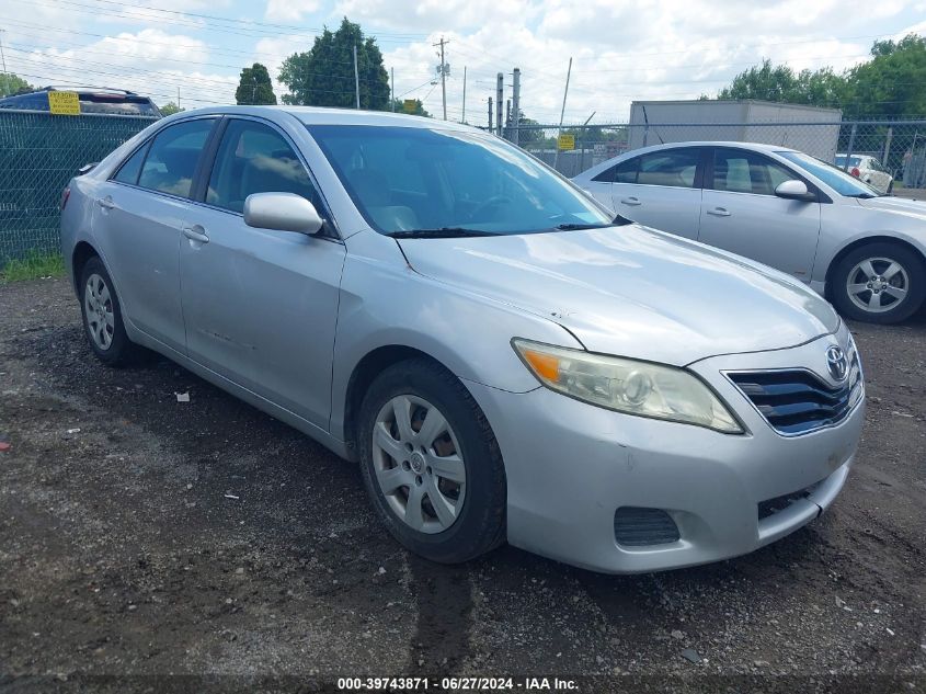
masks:
[[[571,230],[611,215],[492,135],[309,125],[357,209],[381,234],[423,238]]]

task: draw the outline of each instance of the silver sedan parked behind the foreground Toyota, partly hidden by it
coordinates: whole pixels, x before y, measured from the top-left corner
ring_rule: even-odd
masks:
[[[898,322],[926,297],[926,203],[793,149],[659,145],[573,182],[626,219],[786,272],[848,318]]]

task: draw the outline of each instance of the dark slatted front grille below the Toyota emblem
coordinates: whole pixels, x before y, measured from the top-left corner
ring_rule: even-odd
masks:
[[[861,397],[861,368],[855,351],[848,377],[835,388],[805,369],[738,372],[729,376],[766,421],[786,435],[837,424]]]

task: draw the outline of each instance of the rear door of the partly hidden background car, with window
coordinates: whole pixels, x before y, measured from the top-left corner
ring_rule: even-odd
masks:
[[[611,207],[627,219],[697,239],[702,149],[659,149],[621,162],[614,173]]]

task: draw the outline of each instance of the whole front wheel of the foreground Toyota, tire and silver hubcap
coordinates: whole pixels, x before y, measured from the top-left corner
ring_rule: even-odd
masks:
[[[358,424],[364,483],[402,545],[456,564],[504,541],[499,444],[456,376],[427,360],[390,366],[367,391]]]

